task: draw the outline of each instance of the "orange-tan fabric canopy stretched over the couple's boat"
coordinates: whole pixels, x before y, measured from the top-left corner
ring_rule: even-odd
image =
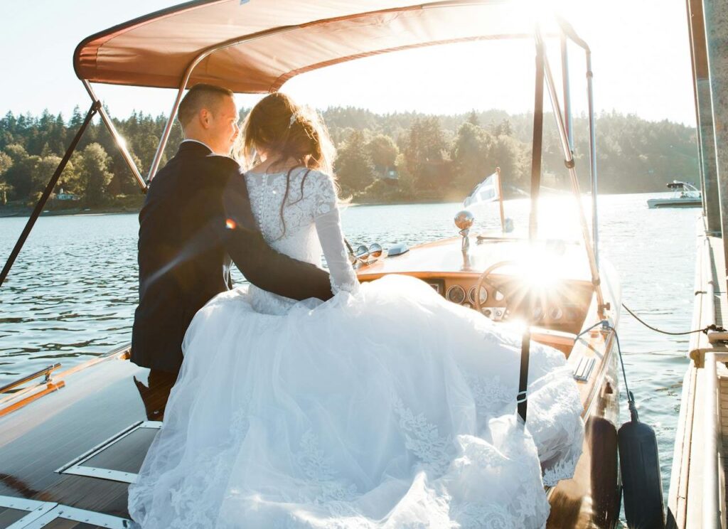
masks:
[[[74,68],[79,79],[95,83],[179,88],[191,73],[187,86],[205,82],[240,93],[274,92],[299,73],[360,57],[532,37],[535,4],[276,0],[271,9],[263,0],[189,1],[84,39],[74,52]]]

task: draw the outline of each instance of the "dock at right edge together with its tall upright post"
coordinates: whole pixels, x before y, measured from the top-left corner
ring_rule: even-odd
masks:
[[[703,215],[667,527],[728,529],[728,6],[686,0]]]

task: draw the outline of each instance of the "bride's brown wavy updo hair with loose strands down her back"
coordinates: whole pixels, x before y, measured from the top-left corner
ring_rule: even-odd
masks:
[[[242,166],[250,169],[256,163],[256,150],[277,156],[269,169],[285,164],[289,159],[298,165],[290,167],[285,178],[285,194],[280,204],[280,219],[285,235],[283,208],[288,200],[290,174],[296,167],[320,170],[333,178],[333,159],[336,149],[328,135],[325,124],[316,111],[296,105],[288,95],[274,92],[258,101],[242,124],[242,148],[239,158]],[[304,183],[308,171],[301,178],[301,196],[304,197]],[[296,202],[298,202],[298,200]]]

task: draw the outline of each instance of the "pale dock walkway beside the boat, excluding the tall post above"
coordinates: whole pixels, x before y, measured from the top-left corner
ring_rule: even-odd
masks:
[[[704,219],[701,219],[701,224]],[[702,226],[701,226],[702,227]],[[728,326],[723,239],[701,229],[697,238],[692,329]],[[667,527],[727,527],[727,333],[693,333],[668,493]]]

